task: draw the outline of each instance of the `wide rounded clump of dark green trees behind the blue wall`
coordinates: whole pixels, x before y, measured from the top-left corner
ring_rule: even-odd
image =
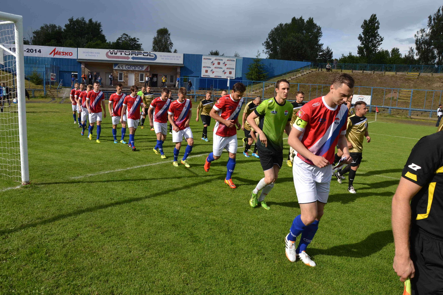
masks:
[[[263,43],[268,58],[316,61],[322,51],[322,28],[312,17],[306,21],[300,16],[290,23],[280,23],[273,28]]]

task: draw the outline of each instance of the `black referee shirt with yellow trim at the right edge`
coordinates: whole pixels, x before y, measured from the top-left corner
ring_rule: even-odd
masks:
[[[422,188],[411,201],[411,222],[443,239],[443,131],[421,138],[412,148],[402,176]]]

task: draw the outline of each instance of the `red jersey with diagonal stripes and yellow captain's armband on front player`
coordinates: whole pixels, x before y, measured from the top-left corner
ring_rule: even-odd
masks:
[[[301,120],[299,120],[301,119]],[[330,164],[334,163],[335,146],[340,134],[346,134],[348,108],[346,104],[329,107],[323,97],[306,103],[297,112],[293,127],[302,131],[300,141],[313,154],[324,157]],[[308,164],[313,163],[297,153],[297,156]]]

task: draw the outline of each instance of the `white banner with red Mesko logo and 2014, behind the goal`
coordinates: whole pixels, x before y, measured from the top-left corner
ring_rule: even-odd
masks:
[[[16,52],[15,44],[3,44],[3,46]],[[8,54],[8,52],[4,51],[4,54]],[[77,48],[23,45],[23,54],[24,56],[77,58]]]

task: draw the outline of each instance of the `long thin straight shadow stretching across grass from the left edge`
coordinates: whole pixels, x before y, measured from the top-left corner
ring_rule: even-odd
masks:
[[[218,179],[219,177],[220,177],[220,176],[214,176],[214,179],[212,179],[212,180],[208,180],[208,181],[210,182],[210,181],[216,180],[216,179]],[[136,198],[123,199],[123,200],[120,200],[120,201],[117,201],[117,202],[112,202],[112,203],[108,203],[108,204],[97,205],[97,206],[88,207],[88,208],[81,209],[81,210],[72,211],[72,212],[70,212],[70,213],[65,213],[65,214],[55,215],[54,217],[47,218],[47,219],[43,219],[43,220],[41,220],[41,221],[37,221],[37,222],[27,223],[27,224],[24,224],[24,225],[22,225],[22,226],[19,226],[19,227],[13,228],[13,229],[9,229],[9,230],[0,230],[0,235],[14,233],[14,232],[16,232],[16,231],[20,231],[20,230],[24,230],[24,229],[27,229],[27,228],[40,226],[40,225],[45,225],[45,224],[48,224],[48,223],[51,223],[51,222],[54,222],[54,221],[58,221],[58,220],[61,220],[61,219],[64,219],[64,218],[69,218],[69,217],[73,217],[73,216],[78,216],[78,215],[82,215],[82,214],[84,214],[84,213],[94,212],[94,211],[98,211],[98,210],[101,210],[101,209],[106,209],[106,208],[109,208],[109,207],[114,207],[114,206],[119,206],[119,205],[129,204],[129,203],[133,203],[133,202],[139,202],[139,201],[143,201],[143,200],[145,200],[145,199],[149,199],[149,198],[155,197],[155,196],[157,196],[157,195],[164,195],[164,194],[168,194],[168,193],[171,193],[171,192],[178,192],[178,191],[183,190],[183,189],[193,188],[193,187],[195,187],[195,186],[198,186],[198,185],[205,185],[205,184],[206,184],[206,183],[202,183],[202,181],[199,180],[199,181],[196,181],[196,182],[194,182],[194,183],[188,183],[188,184],[186,184],[186,185],[182,185],[182,186],[180,186],[180,187],[178,187],[178,188],[177,188],[177,187],[174,187],[174,188],[169,188],[169,189],[164,190],[164,191],[161,191],[161,192],[153,192],[153,193],[151,193],[151,194],[149,194],[149,195],[145,195],[145,196],[143,196],[143,197],[136,197]]]

